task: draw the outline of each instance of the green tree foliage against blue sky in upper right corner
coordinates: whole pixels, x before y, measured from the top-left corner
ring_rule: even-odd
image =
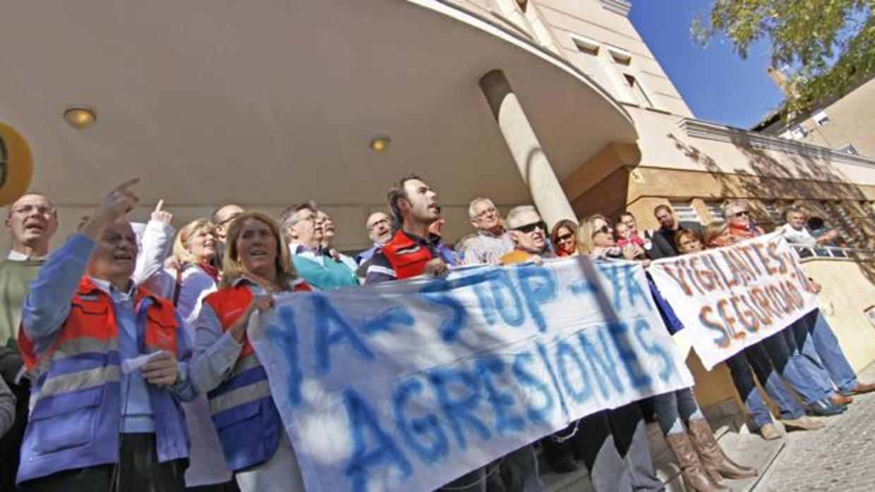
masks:
[[[808,111],[875,73],[875,0],[715,0],[692,36],[701,45],[728,38],[746,58],[766,39],[772,66],[788,76],[785,114]]]

